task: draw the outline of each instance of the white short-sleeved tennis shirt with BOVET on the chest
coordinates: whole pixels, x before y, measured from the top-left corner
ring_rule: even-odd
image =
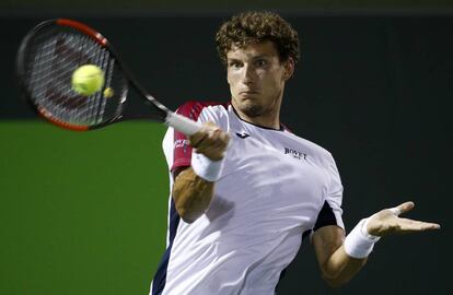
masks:
[[[242,120],[231,105],[189,102],[178,113],[212,121],[232,138],[204,215],[185,223],[170,196],[167,250],[150,294],[274,294],[304,233],[344,227],[333,156],[286,128]],[[169,128],[163,149],[170,170],[190,165],[191,149],[182,133]]]

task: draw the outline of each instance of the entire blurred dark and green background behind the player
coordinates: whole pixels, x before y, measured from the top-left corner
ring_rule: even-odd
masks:
[[[148,294],[165,249],[165,128],[133,121],[72,133],[37,119],[14,78],[24,34],[46,19],[85,22],[176,108],[229,99],[213,35],[232,13],[251,9],[279,12],[299,32],[301,62],[282,120],[334,154],[347,229],[406,200],[416,202],[409,217],[442,225],[382,239],[338,290],[322,281],[305,240],[278,294],[453,294],[452,8],[446,0],[3,0],[0,294]]]

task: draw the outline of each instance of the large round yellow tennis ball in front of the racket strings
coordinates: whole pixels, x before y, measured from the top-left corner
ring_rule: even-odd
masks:
[[[104,72],[100,67],[85,64],[72,73],[72,88],[80,95],[90,96],[104,86]]]

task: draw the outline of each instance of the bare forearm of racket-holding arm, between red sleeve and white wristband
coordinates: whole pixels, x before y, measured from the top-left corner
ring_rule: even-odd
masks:
[[[193,223],[201,216],[213,197],[214,182],[197,176],[189,167],[179,173],[173,186],[173,200],[179,216]]]

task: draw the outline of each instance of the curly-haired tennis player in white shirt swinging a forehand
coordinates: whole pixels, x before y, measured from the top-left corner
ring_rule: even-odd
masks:
[[[229,103],[189,102],[204,122],[163,141],[171,176],[167,249],[150,294],[275,294],[310,234],[321,274],[348,282],[380,237],[440,226],[398,215],[413,202],[363,219],[346,236],[342,186],[332,154],[280,122],[286,82],[299,60],[297,32],[270,12],[225,22],[216,36]]]

